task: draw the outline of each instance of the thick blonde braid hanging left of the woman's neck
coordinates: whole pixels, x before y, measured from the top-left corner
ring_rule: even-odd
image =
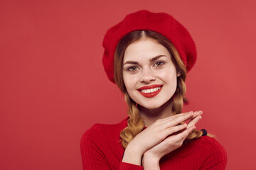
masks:
[[[122,138],[122,146],[126,148],[129,142],[131,142],[139,132],[142,132],[144,129],[144,121],[140,118],[139,109],[137,108],[136,103],[129,97],[127,92],[124,93],[124,97],[128,104],[127,113],[129,115],[129,120],[127,121],[128,126],[120,132],[120,137]]]

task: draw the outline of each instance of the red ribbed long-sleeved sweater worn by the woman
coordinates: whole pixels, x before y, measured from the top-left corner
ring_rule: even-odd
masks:
[[[127,127],[127,118],[114,125],[95,124],[81,139],[83,169],[142,170],[143,166],[122,162],[124,148],[119,132]],[[212,137],[183,142],[183,145],[161,158],[161,169],[225,169],[225,149]]]

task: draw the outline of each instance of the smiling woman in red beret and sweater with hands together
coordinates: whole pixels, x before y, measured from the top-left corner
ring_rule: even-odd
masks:
[[[186,28],[142,10],[110,28],[103,46],[105,71],[124,93],[129,117],[85,132],[84,169],[225,169],[225,149],[196,130],[203,112],[181,113],[186,73],[196,62]]]

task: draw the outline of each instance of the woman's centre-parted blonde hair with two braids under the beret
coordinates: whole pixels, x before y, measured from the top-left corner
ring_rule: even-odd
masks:
[[[119,44],[117,45],[117,49],[114,54],[114,81],[124,94],[125,101],[128,104],[127,113],[129,115],[129,119],[127,120],[127,127],[120,132],[120,137],[122,138],[122,146],[124,148],[126,148],[129,142],[131,142],[132,139],[144,129],[144,121],[139,115],[137,103],[135,103],[127,93],[122,77],[122,62],[124,57],[124,51],[132,42],[135,42],[142,38],[151,38],[159,42],[161,45],[164,45],[164,47],[166,47],[166,49],[169,50],[171,54],[171,61],[176,66],[177,72],[181,73],[181,76],[177,77],[177,88],[174,93],[175,97],[172,108],[174,115],[181,113],[183,103],[188,103],[188,100],[185,97],[186,67],[183,64],[181,57],[178,55],[178,51],[176,50],[174,45],[166,37],[164,37],[164,35],[161,35],[151,30],[136,30],[125,35],[122,40],[119,41]],[[203,132],[201,130],[193,130],[188,135],[188,137],[186,137],[186,140],[193,140],[201,137],[202,135]]]

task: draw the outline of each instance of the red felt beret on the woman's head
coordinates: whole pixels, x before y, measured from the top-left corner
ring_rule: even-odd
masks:
[[[103,65],[110,81],[114,82],[114,52],[124,35],[134,30],[152,30],[168,38],[178,50],[186,65],[187,72],[196,62],[196,45],[188,30],[167,13],[151,13],[146,10],[127,15],[123,21],[113,26],[105,35],[103,47]]]

